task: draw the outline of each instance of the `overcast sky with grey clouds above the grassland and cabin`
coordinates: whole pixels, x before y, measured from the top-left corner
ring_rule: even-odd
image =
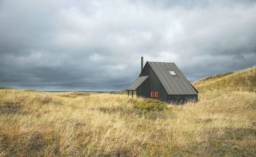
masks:
[[[0,86],[127,88],[146,61],[189,81],[256,64],[256,1],[0,0]]]

